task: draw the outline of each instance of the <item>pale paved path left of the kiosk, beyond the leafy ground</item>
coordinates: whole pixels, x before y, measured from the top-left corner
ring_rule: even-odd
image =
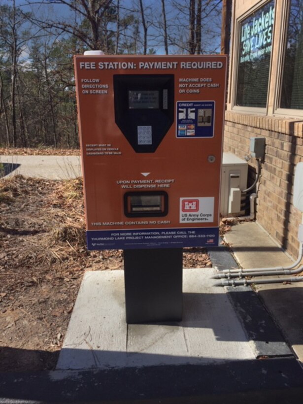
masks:
[[[6,177],[16,174],[45,179],[68,179],[82,175],[80,156],[0,156]]]

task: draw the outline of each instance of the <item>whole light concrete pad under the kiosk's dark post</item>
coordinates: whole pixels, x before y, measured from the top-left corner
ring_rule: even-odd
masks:
[[[214,269],[184,269],[183,321],[125,323],[123,270],[86,272],[58,370],[251,360],[255,354]]]

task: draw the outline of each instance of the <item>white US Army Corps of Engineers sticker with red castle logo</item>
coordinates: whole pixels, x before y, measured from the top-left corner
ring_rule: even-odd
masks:
[[[180,198],[180,223],[213,222],[214,198]]]

